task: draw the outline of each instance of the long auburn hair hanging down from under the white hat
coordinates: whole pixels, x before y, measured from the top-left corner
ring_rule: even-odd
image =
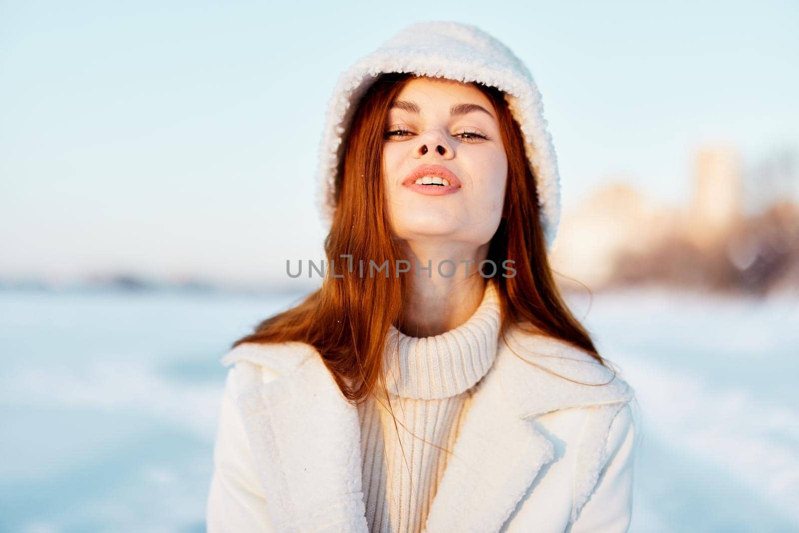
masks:
[[[321,287],[295,307],[263,320],[252,334],[233,343],[311,344],[322,356],[341,392],[353,404],[372,395],[376,384],[385,388],[385,339],[392,324],[402,328],[407,293],[404,276],[360,276],[348,261],[396,265],[400,248],[392,238],[382,179],[383,146],[388,110],[403,85],[415,74],[381,74],[355,110],[344,140],[335,183],[336,210],[324,250],[328,265]],[[507,153],[507,187],[503,217],[489,244],[487,259],[495,265],[514,261],[515,276],[501,276],[500,336],[511,326],[565,341],[605,364],[589,333],[572,315],[555,284],[539,218],[535,176],[527,164],[522,132],[511,115],[504,93],[482,84],[477,88],[491,100]],[[335,273],[335,276],[333,274]],[[517,354],[518,356],[518,354]],[[526,360],[533,364],[531,361]],[[563,376],[560,376],[563,377]],[[567,378],[564,378],[567,379]]]

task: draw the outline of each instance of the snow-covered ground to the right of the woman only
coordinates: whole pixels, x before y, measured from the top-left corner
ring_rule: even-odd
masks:
[[[799,300],[572,300],[642,415],[630,531],[799,531]]]

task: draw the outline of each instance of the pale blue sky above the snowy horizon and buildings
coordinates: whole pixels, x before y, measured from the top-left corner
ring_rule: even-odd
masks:
[[[702,142],[797,145],[796,2],[0,2],[0,276],[286,280],[321,257],[336,78],[435,19],[530,66],[565,209],[610,177],[685,201]]]

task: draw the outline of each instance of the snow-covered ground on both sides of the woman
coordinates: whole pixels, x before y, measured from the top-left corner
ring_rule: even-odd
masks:
[[[0,292],[0,531],[205,531],[229,344],[296,296]],[[642,416],[630,531],[799,531],[799,304],[571,297]]]

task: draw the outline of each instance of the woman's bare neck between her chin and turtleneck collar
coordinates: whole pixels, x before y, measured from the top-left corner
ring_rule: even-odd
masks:
[[[487,252],[488,245],[407,245],[411,270],[406,274],[409,282],[400,331],[415,337],[435,336],[466,322],[483,300],[487,280],[480,276],[478,265]],[[442,263],[445,260],[451,262]],[[416,261],[422,268],[429,261],[429,272],[417,272]]]

